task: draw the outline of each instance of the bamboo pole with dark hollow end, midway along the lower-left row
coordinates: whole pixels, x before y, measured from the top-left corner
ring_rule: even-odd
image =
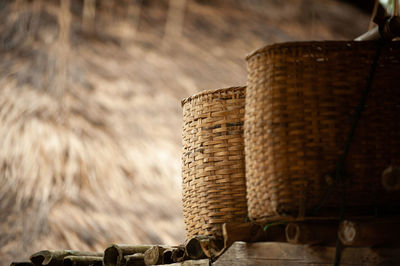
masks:
[[[121,266],[125,263],[125,256],[135,253],[145,253],[151,245],[111,245],[104,251],[104,266]]]

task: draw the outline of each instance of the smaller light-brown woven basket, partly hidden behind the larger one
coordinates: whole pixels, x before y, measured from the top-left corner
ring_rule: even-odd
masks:
[[[183,214],[187,237],[221,235],[247,213],[243,146],[245,87],[182,101]]]

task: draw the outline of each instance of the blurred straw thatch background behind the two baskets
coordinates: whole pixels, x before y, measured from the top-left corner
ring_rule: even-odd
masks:
[[[361,35],[373,3],[0,0],[0,265],[182,243],[180,100],[266,44]]]

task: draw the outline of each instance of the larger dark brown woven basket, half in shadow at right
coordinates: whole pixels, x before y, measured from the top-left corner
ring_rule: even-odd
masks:
[[[392,42],[381,50],[345,162],[346,210],[399,206],[399,193],[381,185],[384,169],[400,165],[399,48],[400,42]],[[376,42],[299,42],[267,46],[247,57],[251,219],[316,215],[318,208],[322,216],[338,215],[336,164],[376,51]]]

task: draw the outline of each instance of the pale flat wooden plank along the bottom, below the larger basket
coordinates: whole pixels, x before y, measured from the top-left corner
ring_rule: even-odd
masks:
[[[212,265],[325,266],[333,265],[334,256],[335,247],[235,242]],[[340,265],[400,265],[400,248],[343,248]]]

